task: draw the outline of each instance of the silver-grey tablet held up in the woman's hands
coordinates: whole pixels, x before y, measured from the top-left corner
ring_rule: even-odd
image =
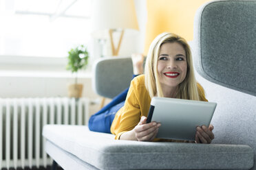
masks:
[[[195,141],[196,127],[210,125],[216,106],[213,102],[153,97],[147,123],[161,123],[156,138]]]

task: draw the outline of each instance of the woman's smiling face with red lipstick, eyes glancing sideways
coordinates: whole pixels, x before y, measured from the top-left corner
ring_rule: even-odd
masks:
[[[161,45],[158,56],[158,77],[163,90],[175,89],[186,77],[186,51],[178,42]]]

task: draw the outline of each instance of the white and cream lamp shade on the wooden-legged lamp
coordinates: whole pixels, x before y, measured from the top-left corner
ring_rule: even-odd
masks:
[[[138,29],[134,0],[94,0],[92,31]]]

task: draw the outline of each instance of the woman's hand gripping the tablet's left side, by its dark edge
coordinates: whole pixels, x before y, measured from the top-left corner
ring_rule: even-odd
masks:
[[[147,117],[142,116],[140,122],[134,127],[134,133],[137,141],[153,141],[158,134],[160,123],[151,122],[147,123]]]

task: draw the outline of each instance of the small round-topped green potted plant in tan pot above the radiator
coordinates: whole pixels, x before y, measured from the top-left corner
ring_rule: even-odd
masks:
[[[77,73],[78,70],[86,69],[88,65],[89,53],[84,45],[79,45],[78,47],[68,51],[69,56],[67,57],[67,70],[76,73],[74,84],[68,86],[68,95],[69,97],[79,98],[82,96],[83,84],[78,84],[77,82]]]

